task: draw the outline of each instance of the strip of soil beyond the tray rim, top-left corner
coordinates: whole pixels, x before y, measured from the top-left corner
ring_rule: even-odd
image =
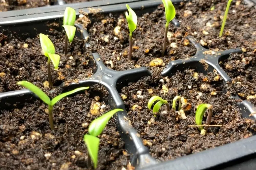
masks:
[[[0,12],[36,8],[47,5],[50,5],[49,0],[3,0],[0,4]]]

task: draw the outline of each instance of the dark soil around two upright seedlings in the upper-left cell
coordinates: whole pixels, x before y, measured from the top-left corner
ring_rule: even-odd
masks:
[[[64,54],[65,34],[50,29],[46,34],[55,46],[55,53],[60,55],[59,69],[52,66],[52,81],[55,86],[64,81],[77,82],[92,75],[89,58],[83,54],[83,40],[75,37],[72,44],[68,44],[68,54]],[[21,89],[17,81],[26,80],[38,87],[44,87],[48,81],[47,58],[42,55],[39,36],[21,40],[15,34],[9,34],[0,47],[0,92]],[[27,48],[24,48],[27,44]]]

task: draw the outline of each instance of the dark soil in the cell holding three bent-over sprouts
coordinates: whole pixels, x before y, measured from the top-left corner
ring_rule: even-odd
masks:
[[[193,78],[193,75],[194,71],[189,69],[165,78],[152,75],[122,88],[121,94],[127,96],[124,103],[129,108],[128,116],[133,127],[140,133],[144,145],[148,146],[152,156],[160,161],[247,138],[256,130],[255,121],[242,118],[236,101],[229,98],[230,93],[221,93],[224,86],[221,85],[221,80],[214,81],[217,74],[199,74],[198,80]],[[161,78],[163,79],[159,82]],[[204,89],[203,86],[207,88]],[[212,92],[216,95],[211,95]],[[166,113],[164,105],[157,117],[154,117],[152,110],[147,108],[148,100],[154,95],[162,97],[170,104],[177,95],[187,99],[187,106],[184,109],[188,110],[187,118],[181,120],[173,110]],[[188,127],[195,125],[196,107],[201,103],[213,106],[211,124],[222,125],[210,127],[206,136],[201,136],[196,127]],[[205,121],[206,116],[203,123]]]

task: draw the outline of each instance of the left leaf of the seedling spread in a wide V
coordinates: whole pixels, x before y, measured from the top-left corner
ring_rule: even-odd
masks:
[[[48,105],[51,105],[51,99],[40,88],[38,88],[34,84],[27,81],[20,81],[17,84],[28,88],[30,91],[35,93],[35,95],[37,95],[43,102],[45,102]]]

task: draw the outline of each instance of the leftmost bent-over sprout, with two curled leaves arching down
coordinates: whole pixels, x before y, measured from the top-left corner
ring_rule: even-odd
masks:
[[[159,101],[158,101],[159,100]],[[158,102],[156,102],[158,101]],[[152,96],[149,100],[148,100],[148,103],[147,103],[147,107],[148,109],[151,109],[152,105],[154,104],[154,102],[156,102],[156,104],[154,105],[153,107],[153,114],[154,116],[156,117],[155,113],[158,113],[159,109],[161,108],[161,106],[163,104],[166,105],[166,110],[167,112],[170,112],[170,105],[168,103],[167,100],[164,100],[162,99],[161,97],[159,96]]]

